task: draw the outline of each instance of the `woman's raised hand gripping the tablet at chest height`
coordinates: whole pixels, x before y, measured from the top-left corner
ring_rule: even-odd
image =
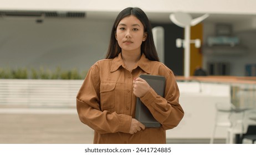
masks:
[[[133,82],[132,85],[134,87],[134,95],[137,97],[144,96],[147,91],[150,90],[150,85],[147,83],[146,80],[141,79],[141,77],[137,77]]]

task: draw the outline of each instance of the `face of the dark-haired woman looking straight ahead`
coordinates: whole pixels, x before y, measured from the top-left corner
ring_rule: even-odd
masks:
[[[146,38],[144,26],[135,16],[125,17],[117,25],[116,40],[122,51],[140,50],[141,43]]]

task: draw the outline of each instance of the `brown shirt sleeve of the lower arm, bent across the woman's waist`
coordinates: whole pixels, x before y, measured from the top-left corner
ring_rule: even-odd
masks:
[[[129,133],[131,116],[101,111],[99,65],[93,65],[76,96],[79,119],[98,133]]]

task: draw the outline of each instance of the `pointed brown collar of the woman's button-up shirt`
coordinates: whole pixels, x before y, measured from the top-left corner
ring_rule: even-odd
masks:
[[[124,66],[124,61],[122,60],[121,53],[119,53],[118,56],[116,56],[111,65],[111,72],[116,71],[119,69],[120,66]],[[140,60],[137,63],[137,67],[140,67],[142,70],[144,70],[146,73],[150,74],[150,60],[146,58],[145,54],[142,53]]]

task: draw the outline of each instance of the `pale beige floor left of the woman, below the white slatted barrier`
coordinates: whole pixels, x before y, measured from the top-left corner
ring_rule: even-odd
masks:
[[[93,130],[80,122],[76,110],[61,111],[2,108],[0,143],[93,143]]]

